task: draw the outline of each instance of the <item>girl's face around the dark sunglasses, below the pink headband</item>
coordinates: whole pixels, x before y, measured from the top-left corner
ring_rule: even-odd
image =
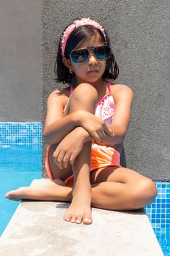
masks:
[[[96,36],[89,39],[87,42],[77,45],[77,49],[80,48],[93,48],[95,46],[104,45],[104,42],[101,42],[100,35],[96,33]],[[82,63],[74,63],[72,59],[70,60],[71,68],[75,75],[77,84],[79,83],[95,83],[96,81],[102,79],[106,68],[106,60],[99,61],[96,56],[93,55],[93,51],[90,50],[88,55],[88,61]]]

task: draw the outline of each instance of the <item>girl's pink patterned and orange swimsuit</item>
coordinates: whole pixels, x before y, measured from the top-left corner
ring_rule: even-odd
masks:
[[[115,102],[111,94],[111,83],[108,83],[109,94],[106,94],[97,104],[95,107],[95,116],[101,118],[107,124],[112,124],[112,119],[114,118],[115,113]],[[73,86],[70,85],[70,94],[72,94]],[[67,101],[67,104],[69,99]],[[67,105],[66,104],[66,105]],[[66,109],[66,106],[64,110]],[[64,112],[63,110],[63,112]],[[49,151],[50,146],[47,146],[47,158],[45,162],[45,167],[47,170],[47,174],[50,180],[53,180],[53,175],[50,170],[49,165]],[[101,167],[109,167],[109,166],[118,166],[120,165],[120,153],[112,147],[102,145],[102,143],[95,143],[94,140],[92,141],[91,146],[91,159],[90,159],[90,171],[96,170]],[[73,175],[64,181],[67,186],[72,186],[74,181]]]

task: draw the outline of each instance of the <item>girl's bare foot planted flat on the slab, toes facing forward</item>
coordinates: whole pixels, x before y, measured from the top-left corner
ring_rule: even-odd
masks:
[[[92,214],[90,211],[91,203],[91,190],[90,189],[77,189],[73,193],[72,203],[66,211],[63,219],[67,222],[80,224],[91,224]]]

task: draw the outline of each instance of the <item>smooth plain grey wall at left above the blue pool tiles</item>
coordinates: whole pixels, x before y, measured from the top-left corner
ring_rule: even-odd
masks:
[[[41,121],[41,0],[1,0],[0,121]]]

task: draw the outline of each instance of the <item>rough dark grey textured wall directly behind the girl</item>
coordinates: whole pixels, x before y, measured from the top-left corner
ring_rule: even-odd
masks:
[[[42,121],[53,83],[58,39],[67,23],[93,17],[107,29],[120,67],[116,83],[134,90],[131,124],[125,138],[127,167],[155,181],[169,181],[168,0],[42,1]],[[43,144],[45,161],[45,145]]]

